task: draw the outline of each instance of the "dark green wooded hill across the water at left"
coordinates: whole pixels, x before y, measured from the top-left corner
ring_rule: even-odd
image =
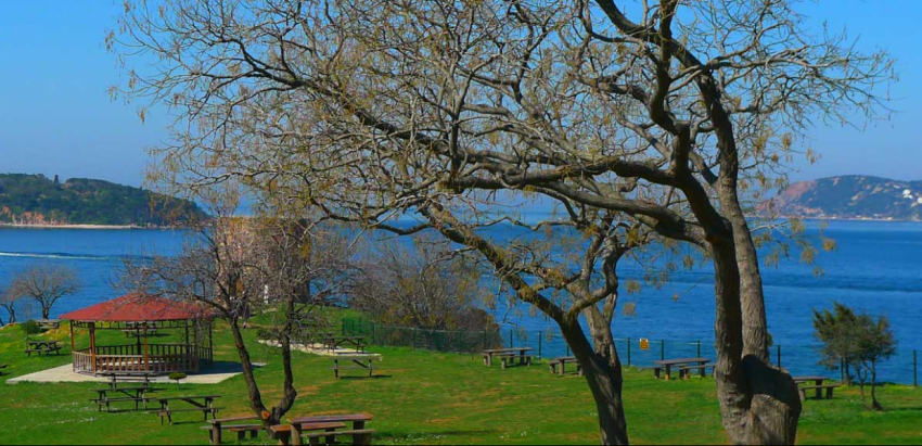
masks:
[[[204,217],[195,203],[102,180],[0,175],[0,224],[172,226]]]

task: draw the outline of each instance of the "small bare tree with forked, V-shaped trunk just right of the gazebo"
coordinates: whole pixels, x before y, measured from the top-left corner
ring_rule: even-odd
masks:
[[[348,256],[332,245],[315,251],[309,230],[316,228],[305,222],[232,217],[222,211],[196,228],[177,256],[125,260],[121,285],[205,305],[226,320],[243,367],[251,408],[268,429],[282,420],[297,398],[292,337],[311,320],[316,304],[336,292]],[[281,327],[277,334],[285,377],[282,397],[271,408],[264,402],[244,337],[245,321],[264,309],[271,309],[277,315],[272,319]]]

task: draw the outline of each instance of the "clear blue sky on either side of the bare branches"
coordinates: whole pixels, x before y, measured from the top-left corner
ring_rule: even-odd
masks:
[[[103,38],[121,2],[0,1],[0,173],[91,177],[139,186],[149,162],[144,148],[166,138],[156,113],[142,125],[137,106],[106,94],[121,84]],[[847,27],[860,46],[888,49],[901,81],[889,122],[862,130],[819,128],[810,145],[822,155],[801,164],[795,179],[844,174],[922,180],[922,40],[917,0],[806,1],[817,30]]]

